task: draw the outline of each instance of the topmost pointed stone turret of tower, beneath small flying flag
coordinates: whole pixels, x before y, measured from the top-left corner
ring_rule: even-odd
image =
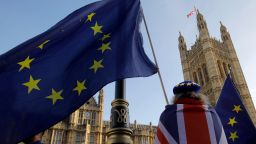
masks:
[[[197,28],[199,30],[199,39],[204,40],[210,37],[204,16],[197,10]]]

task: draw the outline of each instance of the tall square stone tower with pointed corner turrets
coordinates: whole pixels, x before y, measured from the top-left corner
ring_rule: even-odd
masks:
[[[242,68],[227,28],[220,23],[221,41],[209,35],[203,15],[197,12],[199,37],[191,49],[187,48],[182,34],[179,34],[179,51],[185,80],[193,80],[202,86],[202,93],[216,104],[226,75],[231,68],[232,79],[254,124],[256,112]]]

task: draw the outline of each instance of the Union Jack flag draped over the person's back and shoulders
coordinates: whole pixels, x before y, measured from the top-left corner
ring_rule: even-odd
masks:
[[[161,114],[155,144],[227,144],[221,121],[207,105],[167,105]]]

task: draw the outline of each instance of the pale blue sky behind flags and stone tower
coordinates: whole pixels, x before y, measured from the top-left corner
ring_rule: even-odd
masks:
[[[1,0],[0,1],[0,53],[44,32],[72,11],[95,0]],[[159,67],[169,99],[172,88],[183,80],[178,32],[181,31],[191,46],[198,34],[195,15],[186,14],[196,6],[204,15],[212,37],[220,39],[219,21],[227,26],[251,95],[256,102],[256,1],[247,0],[141,0],[149,30],[155,46]],[[149,42],[142,25],[145,51],[152,59]],[[153,60],[153,59],[152,59]],[[105,87],[104,119],[109,120],[114,84]],[[130,120],[157,124],[165,106],[157,75],[127,80],[127,99]]]

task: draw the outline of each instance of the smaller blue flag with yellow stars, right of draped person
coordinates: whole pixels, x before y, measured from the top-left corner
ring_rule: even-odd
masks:
[[[229,144],[256,144],[256,129],[230,75],[227,76],[215,108]]]

